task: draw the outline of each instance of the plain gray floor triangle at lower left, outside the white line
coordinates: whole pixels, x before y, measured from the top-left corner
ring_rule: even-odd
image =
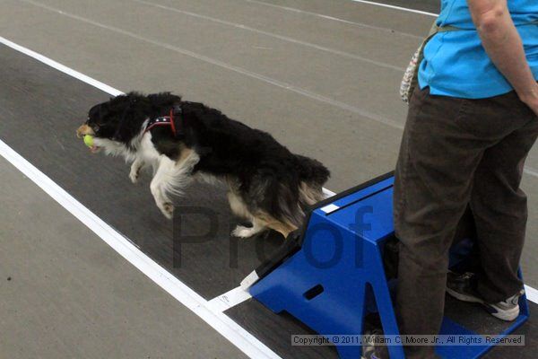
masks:
[[[0,157],[0,358],[246,357]]]

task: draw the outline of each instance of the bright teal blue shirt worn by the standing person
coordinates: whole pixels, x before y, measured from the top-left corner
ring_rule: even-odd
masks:
[[[508,8],[525,47],[534,78],[538,80],[538,0],[508,0]],[[464,29],[438,33],[426,48],[419,72],[421,89],[430,93],[482,99],[513,90],[482,48],[466,0],[442,0],[438,26]]]

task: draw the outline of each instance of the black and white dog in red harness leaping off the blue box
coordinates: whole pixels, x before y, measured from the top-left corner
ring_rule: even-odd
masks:
[[[169,92],[130,92],[93,106],[77,129],[85,135],[93,136],[92,152],[132,162],[133,182],[151,166],[152,195],[169,218],[169,196],[180,195],[191,180],[225,182],[233,213],[252,222],[234,230],[238,237],[271,228],[286,238],[304,220],[306,206],[323,199],[329,178],[323,164],[291,153],[273,136]]]

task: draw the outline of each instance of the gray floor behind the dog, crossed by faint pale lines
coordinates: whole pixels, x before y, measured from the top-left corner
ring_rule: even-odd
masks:
[[[406,113],[398,85],[432,20],[345,0],[0,3],[5,38],[122,91],[220,108],[325,162],[335,191],[394,168]],[[523,266],[538,286],[536,147],[527,165]]]

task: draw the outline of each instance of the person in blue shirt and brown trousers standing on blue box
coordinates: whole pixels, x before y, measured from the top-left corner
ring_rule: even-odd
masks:
[[[527,221],[520,182],[538,136],[536,21],[535,0],[441,1],[438,26],[457,31],[439,32],[424,48],[395,171],[401,334],[438,334],[446,290],[500,320],[519,313]],[[467,206],[482,270],[447,276]],[[431,346],[405,353],[435,357]]]

